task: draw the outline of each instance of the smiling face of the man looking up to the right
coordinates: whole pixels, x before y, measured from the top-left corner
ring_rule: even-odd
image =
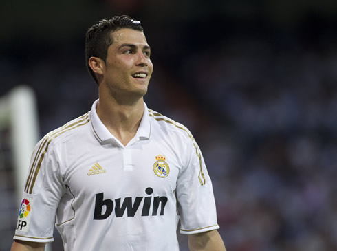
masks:
[[[112,32],[102,69],[102,83],[115,98],[142,98],[153,71],[150,47],[143,32],[123,28]]]

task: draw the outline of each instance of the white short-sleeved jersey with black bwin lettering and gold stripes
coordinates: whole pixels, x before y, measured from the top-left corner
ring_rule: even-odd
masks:
[[[202,153],[182,124],[148,109],[123,146],[91,111],[34,149],[14,239],[65,251],[179,250],[176,236],[219,228]],[[56,217],[55,217],[56,215]]]

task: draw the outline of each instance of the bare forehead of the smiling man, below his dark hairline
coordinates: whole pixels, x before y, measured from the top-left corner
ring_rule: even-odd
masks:
[[[147,45],[144,32],[139,30],[132,30],[129,28],[122,28],[116,32],[111,32],[113,39],[112,45],[120,45],[123,43],[134,45]]]

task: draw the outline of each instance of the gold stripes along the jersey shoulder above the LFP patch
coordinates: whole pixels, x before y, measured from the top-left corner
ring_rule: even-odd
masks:
[[[76,127],[80,127],[82,125],[87,124],[90,121],[88,114],[89,113],[85,113],[85,115],[77,118],[75,122],[74,121],[68,122],[63,127],[60,127],[54,131],[51,131],[47,135],[45,135],[45,137],[43,138],[43,141],[41,142],[39,146],[38,151],[36,152],[34,161],[30,168],[30,173],[28,175],[27,182],[25,184],[25,193],[32,193],[37,174],[39,173],[39,170],[41,167],[41,162],[43,161],[43,157],[45,156],[45,153],[47,152],[50,142],[52,142],[54,138],[57,138],[58,135],[61,135],[67,131],[71,131],[72,129],[75,129]]]

